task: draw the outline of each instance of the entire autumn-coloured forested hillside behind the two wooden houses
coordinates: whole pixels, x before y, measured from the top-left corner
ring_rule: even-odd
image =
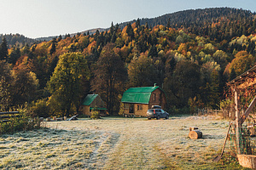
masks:
[[[38,116],[72,115],[95,93],[117,114],[125,89],[154,83],[170,112],[218,108],[225,83],[255,63],[254,14],[207,8],[164,16],[22,48],[3,39],[1,109],[27,103]]]

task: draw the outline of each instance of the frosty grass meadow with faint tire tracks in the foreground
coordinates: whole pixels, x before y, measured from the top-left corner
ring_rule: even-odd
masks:
[[[0,168],[241,169],[227,157],[212,162],[228,129],[227,121],[212,116],[84,118],[43,126],[0,137]],[[189,127],[199,127],[203,139],[189,139]]]

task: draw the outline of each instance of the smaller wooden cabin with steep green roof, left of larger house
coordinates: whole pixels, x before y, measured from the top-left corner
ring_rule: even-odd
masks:
[[[98,94],[88,94],[84,98],[80,109],[80,111],[86,116],[90,116],[92,110],[99,111],[100,116],[108,115],[108,110],[106,109],[104,102]]]

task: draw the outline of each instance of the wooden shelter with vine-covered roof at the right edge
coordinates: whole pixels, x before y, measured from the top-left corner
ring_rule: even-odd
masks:
[[[227,86],[230,87],[231,97],[235,101],[235,111],[236,111],[236,144],[237,147],[240,146],[239,139],[239,130],[243,122],[245,122],[247,116],[253,111],[254,106],[256,105],[256,65],[253,66],[250,70],[242,73],[239,77],[231,80],[227,83]],[[253,96],[253,100],[250,105],[246,106],[246,111],[241,113],[240,99],[241,96],[247,98],[247,94]],[[237,148],[237,153],[241,154],[240,148]]]

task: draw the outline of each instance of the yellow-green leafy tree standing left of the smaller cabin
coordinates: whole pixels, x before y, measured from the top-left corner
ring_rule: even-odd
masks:
[[[78,106],[83,94],[83,81],[89,78],[87,61],[79,53],[62,54],[48,82],[48,89],[60,105],[62,116],[70,116],[72,106]]]

